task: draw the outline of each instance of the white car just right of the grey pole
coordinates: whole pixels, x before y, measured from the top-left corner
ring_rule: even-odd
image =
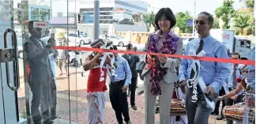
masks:
[[[106,39],[106,35],[101,35],[99,36],[99,38]],[[107,39],[110,40],[113,43],[113,45],[119,47],[125,47],[128,43],[130,43],[129,40],[115,34],[107,34]]]

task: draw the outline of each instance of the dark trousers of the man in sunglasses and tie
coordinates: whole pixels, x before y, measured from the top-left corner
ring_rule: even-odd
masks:
[[[198,86],[198,100],[193,103],[193,88],[188,88],[186,92],[186,115],[188,118],[188,124],[208,124],[209,115],[213,109],[208,107],[205,96],[201,92],[201,88]],[[213,101],[216,101],[213,100]]]

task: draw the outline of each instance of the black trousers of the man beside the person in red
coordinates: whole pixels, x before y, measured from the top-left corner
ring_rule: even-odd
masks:
[[[126,92],[122,92],[122,87],[125,84],[125,81],[111,82],[109,86],[109,97],[111,100],[111,105],[115,110],[115,117],[117,121],[122,124],[122,115],[124,121],[130,121],[129,117],[129,108]]]

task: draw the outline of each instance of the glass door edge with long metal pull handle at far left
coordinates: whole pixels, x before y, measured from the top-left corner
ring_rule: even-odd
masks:
[[[20,62],[14,30],[13,1],[0,1],[0,123],[23,123],[19,117],[17,91],[20,88]]]

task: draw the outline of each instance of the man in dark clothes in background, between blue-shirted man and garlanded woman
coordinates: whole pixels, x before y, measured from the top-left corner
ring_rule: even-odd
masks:
[[[126,51],[132,51],[133,45],[129,43],[126,47]],[[135,91],[137,85],[137,71],[136,65],[140,61],[140,58],[136,54],[123,54],[123,58],[126,58],[130,66],[130,71],[132,73],[131,84],[129,85],[130,90],[130,106],[136,111],[137,107],[135,106]]]

